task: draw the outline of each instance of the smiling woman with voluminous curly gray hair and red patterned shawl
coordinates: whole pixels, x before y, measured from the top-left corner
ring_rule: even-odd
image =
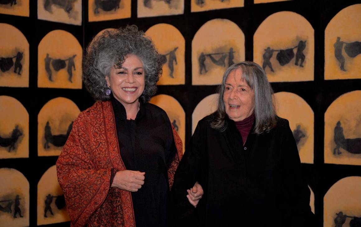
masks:
[[[57,160],[73,226],[167,226],[182,141],[165,111],[148,103],[161,69],[136,26],[106,30],[87,48],[83,81],[97,102],[74,121]],[[196,205],[203,191],[193,188]]]

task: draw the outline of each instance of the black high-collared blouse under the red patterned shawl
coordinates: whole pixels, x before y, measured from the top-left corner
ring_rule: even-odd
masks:
[[[169,118],[158,106],[145,103],[134,120],[127,120],[124,106],[114,97],[111,101],[124,165],[145,172],[144,185],[131,193],[136,226],[166,226],[167,170],[177,152]]]

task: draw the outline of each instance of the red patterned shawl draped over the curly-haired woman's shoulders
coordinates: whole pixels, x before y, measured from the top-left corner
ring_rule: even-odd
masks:
[[[183,155],[174,128],[173,136],[178,152],[168,169],[170,187]],[[110,188],[112,174],[125,170],[110,101],[96,102],[75,119],[56,169],[71,226],[135,227],[131,193]]]

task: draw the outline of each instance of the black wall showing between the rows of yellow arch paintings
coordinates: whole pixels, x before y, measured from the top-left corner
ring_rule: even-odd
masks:
[[[25,175],[30,183],[30,226],[36,226],[37,184],[44,172],[55,165],[57,157],[38,157],[37,122],[38,113],[43,105],[55,98],[66,97],[73,100],[79,109],[85,110],[94,101],[85,88],[51,89],[37,87],[37,52],[40,40],[50,31],[61,29],[73,34],[86,49],[88,43],[99,31],[135,24],[146,31],[158,23],[175,26],[186,40],[186,83],[175,86],[158,86],[157,94],[173,96],[179,101],[186,113],[186,143],[192,134],[192,112],[206,96],[216,92],[216,86],[192,86],[191,43],[193,36],[207,21],[215,18],[235,22],[245,35],[245,59],[253,60],[253,35],[257,27],[268,16],[279,11],[292,11],[304,16],[314,28],[315,55],[314,81],[271,83],[275,92],[292,92],[302,97],[314,111],[314,164],[302,164],[304,175],[315,195],[315,213],[318,226],[323,223],[323,197],[328,189],[339,179],[347,176],[361,176],[361,166],[325,164],[324,160],[324,114],[328,106],[340,95],[361,90],[361,79],[324,80],[324,40],[325,28],[329,21],[343,8],[360,3],[358,0],[291,0],[266,4],[254,4],[244,0],[244,7],[220,9],[191,13],[191,3],[185,0],[184,14],[137,18],[137,1],[132,0],[131,18],[103,22],[87,22],[88,1],[83,0],[82,26],[67,25],[37,19],[37,3],[30,1],[30,17],[0,14],[0,23],[8,23],[23,32],[30,44],[29,87],[0,87],[0,95],[12,96],[19,100],[29,113],[29,158],[0,159],[0,167],[14,168]],[[360,28],[358,28],[360,29]],[[215,31],[216,32],[216,31]],[[1,33],[1,31],[0,31]],[[66,47],[64,47],[66,48]],[[0,85],[1,86],[1,85]],[[3,182],[1,182],[3,184]],[[1,186],[0,186],[1,187]],[[0,224],[1,225],[1,224]],[[58,223],[51,226],[69,226]]]

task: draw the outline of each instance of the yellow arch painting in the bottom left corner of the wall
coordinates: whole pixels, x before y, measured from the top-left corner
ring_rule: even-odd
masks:
[[[11,212],[1,212],[0,226],[29,226],[29,182],[16,169],[0,169],[0,204]],[[14,215],[16,218],[14,218]]]

